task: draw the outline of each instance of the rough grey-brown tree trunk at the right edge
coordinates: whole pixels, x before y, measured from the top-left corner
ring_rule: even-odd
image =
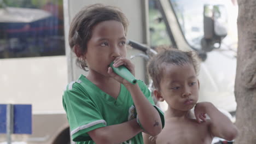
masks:
[[[238,0],[237,144],[256,143],[256,1]]]

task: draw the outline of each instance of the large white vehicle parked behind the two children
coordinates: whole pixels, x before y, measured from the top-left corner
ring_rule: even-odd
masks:
[[[13,36],[1,37],[0,34],[0,104],[32,104],[32,135],[13,134],[13,142],[71,143],[69,126],[62,107],[62,92],[68,82],[86,73],[75,64],[75,57],[68,45],[68,29],[69,23],[79,9],[94,3],[96,2],[93,0],[63,0],[65,34],[52,39],[65,41],[57,43],[65,46],[65,55],[63,53],[43,57],[19,57],[17,55],[17,57],[10,58],[8,57],[10,51],[6,50],[7,47],[15,48],[15,44],[19,46],[21,39]],[[237,44],[237,6],[231,1],[195,0],[191,3],[189,0],[99,0],[97,3],[114,5],[123,10],[130,21],[127,39],[136,40],[150,47],[166,44],[200,53],[203,59],[199,75],[200,100],[211,101],[219,109],[235,112],[236,52],[234,52],[234,47],[236,48]],[[210,23],[213,25],[208,29],[206,27],[208,25],[205,25],[204,29],[204,15],[208,14],[212,17],[216,12],[214,8],[218,10],[222,8],[219,4],[225,5],[228,22],[225,23],[225,14],[220,11],[219,14],[224,18],[219,16],[216,20],[212,19],[214,21]],[[203,13],[204,9],[210,10],[210,13],[206,13],[207,11]],[[225,38],[212,29],[218,29],[216,23],[217,20],[221,22],[220,18],[224,20],[222,25],[228,25],[226,29],[228,35]],[[0,31],[4,32],[3,29]],[[26,37],[23,38],[26,39]],[[207,41],[202,40],[203,38]],[[218,41],[219,38],[222,41]],[[140,53],[140,51],[128,50],[129,57],[135,53]],[[132,62],[135,63],[136,78],[148,82],[144,59],[133,58]],[[160,105],[163,110],[166,109],[164,103]],[[6,135],[0,134],[0,143],[5,141]]]

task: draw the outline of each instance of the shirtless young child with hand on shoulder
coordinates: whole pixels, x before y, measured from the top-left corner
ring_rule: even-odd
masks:
[[[213,137],[231,141],[237,128],[212,103],[197,103],[199,80],[193,53],[169,49],[160,52],[148,64],[158,101],[166,101],[165,128],[152,141],[144,134],[144,143],[210,144]],[[195,106],[193,114],[190,110]],[[206,114],[210,119],[206,119]]]

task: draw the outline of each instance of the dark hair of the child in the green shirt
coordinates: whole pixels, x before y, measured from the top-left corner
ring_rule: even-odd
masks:
[[[74,46],[78,45],[80,52],[85,53],[94,26],[100,22],[109,20],[121,22],[126,35],[128,20],[120,9],[109,5],[94,4],[80,10],[74,16],[69,29],[68,41],[72,51],[74,51]],[[85,71],[88,71],[86,70],[88,66],[82,58],[77,58],[77,64]]]

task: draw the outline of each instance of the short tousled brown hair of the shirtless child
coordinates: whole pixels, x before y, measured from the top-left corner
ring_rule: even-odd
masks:
[[[164,70],[164,64],[184,65],[192,64],[196,75],[199,72],[199,58],[193,51],[181,51],[167,46],[157,48],[158,55],[148,63],[148,74],[153,80],[154,87],[160,90],[160,82]]]

